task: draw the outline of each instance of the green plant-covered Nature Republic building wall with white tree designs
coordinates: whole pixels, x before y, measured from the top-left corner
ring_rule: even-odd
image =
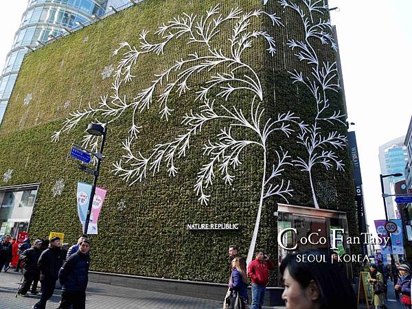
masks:
[[[321,230],[327,244],[300,249],[330,254],[331,230],[356,236],[358,221],[337,46],[319,5],[142,1],[27,54],[0,129],[0,190],[36,187],[31,235],[74,242],[78,182],[91,176],[69,152],[98,151],[84,134],[98,122],[107,194],[93,270],[227,283],[230,244],[277,264],[288,227],[284,244]]]

